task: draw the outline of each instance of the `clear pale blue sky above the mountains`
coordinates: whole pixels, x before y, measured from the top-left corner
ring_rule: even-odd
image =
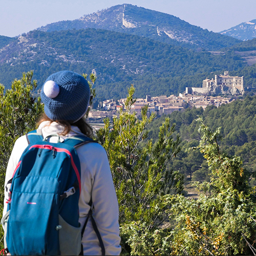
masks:
[[[256,19],[256,0],[0,0],[0,35],[17,36],[120,4],[172,14],[214,32]]]

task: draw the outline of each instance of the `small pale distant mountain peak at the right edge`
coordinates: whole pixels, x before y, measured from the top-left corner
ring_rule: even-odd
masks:
[[[235,27],[220,32],[222,35],[232,36],[239,40],[251,40],[256,37],[256,19],[243,22]]]

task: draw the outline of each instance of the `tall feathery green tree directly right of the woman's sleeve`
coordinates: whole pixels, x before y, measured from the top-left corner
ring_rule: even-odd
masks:
[[[125,112],[113,118],[113,126],[105,119],[105,126],[97,133],[110,161],[113,181],[119,202],[121,235],[124,251],[131,251],[130,229],[137,225],[148,231],[148,237],[167,219],[167,205],[163,196],[179,194],[183,176],[168,167],[168,162],[179,153],[179,137],[173,138],[175,125],[166,118],[160,127],[158,140],[145,141],[147,125],[155,115],[147,117],[147,106],[141,119],[132,113],[135,89],[132,86],[125,102]],[[131,222],[134,222],[131,224]],[[126,244],[125,244],[126,243]],[[125,247],[127,245],[131,247]]]

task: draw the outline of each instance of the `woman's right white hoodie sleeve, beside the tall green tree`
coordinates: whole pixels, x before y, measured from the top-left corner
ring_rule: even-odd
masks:
[[[97,143],[89,143],[77,150],[81,164],[81,196],[79,211],[81,224],[90,210],[92,198],[94,219],[101,234],[106,255],[119,255],[119,210],[108,156]],[[101,249],[92,223],[89,220],[83,238],[84,255],[101,255]]]

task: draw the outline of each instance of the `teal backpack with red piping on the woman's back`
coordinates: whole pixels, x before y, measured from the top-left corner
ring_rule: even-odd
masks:
[[[58,135],[51,135],[58,136]],[[82,253],[78,201],[80,161],[75,148],[94,142],[86,136],[48,142],[36,131],[27,134],[28,147],[9,185],[5,228],[6,252],[11,255],[79,255]],[[92,205],[92,202],[91,202]],[[94,229],[96,223],[92,218]],[[82,230],[82,232],[81,232]],[[103,246],[96,227],[95,232]],[[104,254],[104,246],[102,248]]]

